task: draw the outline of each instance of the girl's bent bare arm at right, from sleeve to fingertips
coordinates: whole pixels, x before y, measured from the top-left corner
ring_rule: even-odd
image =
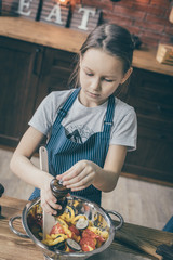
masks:
[[[104,168],[89,160],[80,160],[56,178],[62,179],[71,191],[80,191],[93,184],[103,192],[111,192],[117,185],[125,155],[125,146],[110,145]]]

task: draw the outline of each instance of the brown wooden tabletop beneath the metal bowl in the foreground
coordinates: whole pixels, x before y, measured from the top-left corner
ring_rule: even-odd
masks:
[[[21,238],[9,227],[9,219],[14,216],[21,216],[26,200],[2,196],[0,205],[2,206],[0,218],[0,260],[42,260],[43,255],[31,239]],[[24,232],[21,221],[16,220],[14,226]],[[135,245],[132,249],[130,245],[119,242],[121,238],[129,237]],[[173,234],[152,230],[144,226],[124,223],[121,231],[118,231],[111,246],[102,252],[92,257],[92,260],[116,259],[116,260],[142,260],[142,259],[159,259],[159,255],[149,256],[146,252],[155,255],[156,247],[161,244],[170,244],[173,242]],[[137,247],[143,251],[137,250]],[[157,258],[158,256],[158,258]]]

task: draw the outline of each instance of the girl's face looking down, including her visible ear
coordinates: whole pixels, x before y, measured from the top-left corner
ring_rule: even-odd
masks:
[[[80,58],[80,102],[94,107],[103,104],[132,73],[123,75],[122,62],[99,50],[89,49]]]

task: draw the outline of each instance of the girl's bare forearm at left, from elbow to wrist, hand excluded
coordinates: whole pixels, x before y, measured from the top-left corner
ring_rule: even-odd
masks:
[[[43,188],[44,183],[53,179],[51,174],[37,168],[29,158],[23,155],[14,154],[10,168],[18,178],[38,188]]]

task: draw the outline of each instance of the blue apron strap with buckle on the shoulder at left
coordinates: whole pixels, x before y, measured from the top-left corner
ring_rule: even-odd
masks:
[[[54,122],[54,127],[56,127],[58,123],[62,122],[63,118],[67,115],[67,112],[71,107],[74,101],[76,100],[78,93],[80,91],[80,88],[76,89],[66,100],[65,104],[63,107],[58,110],[56,120]]]

